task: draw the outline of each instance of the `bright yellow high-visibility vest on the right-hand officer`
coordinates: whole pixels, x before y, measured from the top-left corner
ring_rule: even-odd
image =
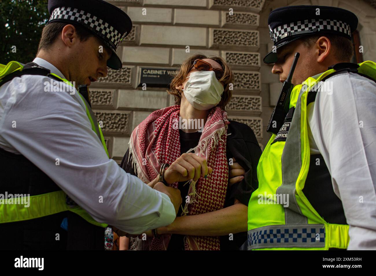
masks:
[[[287,139],[273,143],[276,138],[273,134],[262,152],[257,167],[259,187],[248,205],[249,250],[346,249],[349,244],[349,225],[327,223],[302,192],[310,162],[307,97],[321,80],[334,72],[327,70],[294,86],[290,109],[295,110]],[[359,63],[358,73],[375,80],[376,63]],[[259,204],[260,195],[271,195],[268,199],[272,204]],[[288,207],[282,204],[281,195],[289,196]]]

